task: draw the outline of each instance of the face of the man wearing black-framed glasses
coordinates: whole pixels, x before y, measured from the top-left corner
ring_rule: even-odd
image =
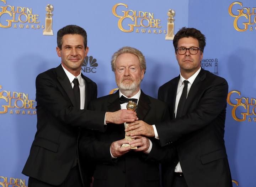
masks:
[[[199,42],[195,38],[184,37],[178,40],[178,48],[181,48],[181,47],[199,48]],[[176,59],[180,66],[181,75],[184,78],[189,78],[200,68],[201,60],[203,59],[203,53],[200,50],[196,55],[191,55],[188,50],[184,55],[180,55],[178,54],[178,52],[176,52]]]

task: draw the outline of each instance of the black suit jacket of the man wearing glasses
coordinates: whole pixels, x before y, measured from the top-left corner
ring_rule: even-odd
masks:
[[[180,76],[159,88],[158,98],[169,104],[171,121],[156,126],[161,145],[176,145],[178,160],[189,187],[231,187],[224,145],[228,83],[201,69],[185,103],[183,116],[174,108]],[[174,167],[163,166],[165,186],[171,186]]]

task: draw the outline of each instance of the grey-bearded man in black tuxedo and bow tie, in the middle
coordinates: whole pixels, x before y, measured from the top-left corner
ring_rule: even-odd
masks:
[[[119,49],[112,56],[111,65],[119,90],[92,101],[91,110],[116,111],[126,108],[128,100],[135,99],[140,120],[158,123],[168,118],[168,106],[140,89],[146,63],[139,50],[131,47]],[[135,140],[129,142],[124,139],[124,129],[124,125],[111,123],[104,133],[84,132],[79,150],[83,159],[95,161],[93,187],[159,187],[159,161],[170,160],[173,149],[168,146],[165,150],[157,139],[149,140],[143,136],[135,136]],[[122,148],[122,144],[138,149]]]

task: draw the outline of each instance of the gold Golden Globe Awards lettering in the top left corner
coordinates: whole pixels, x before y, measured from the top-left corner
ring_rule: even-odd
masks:
[[[6,1],[1,0],[6,4]],[[22,6],[0,6],[0,27],[1,28],[44,28],[39,23],[39,15],[34,14],[29,7]]]

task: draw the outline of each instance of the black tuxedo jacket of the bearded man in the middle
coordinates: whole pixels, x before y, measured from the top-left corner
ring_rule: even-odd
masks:
[[[92,101],[92,110],[116,111],[121,109],[119,91]],[[137,116],[149,124],[168,118],[167,105],[143,92],[140,94]],[[130,152],[112,159],[110,145],[125,136],[124,124],[108,124],[105,133],[84,132],[80,141],[80,152],[86,159],[95,161],[94,187],[159,187],[159,160],[170,161],[173,149],[161,148],[158,140],[152,138],[149,155],[143,152]],[[164,150],[165,149],[165,150]],[[168,158],[168,159],[167,159]]]

